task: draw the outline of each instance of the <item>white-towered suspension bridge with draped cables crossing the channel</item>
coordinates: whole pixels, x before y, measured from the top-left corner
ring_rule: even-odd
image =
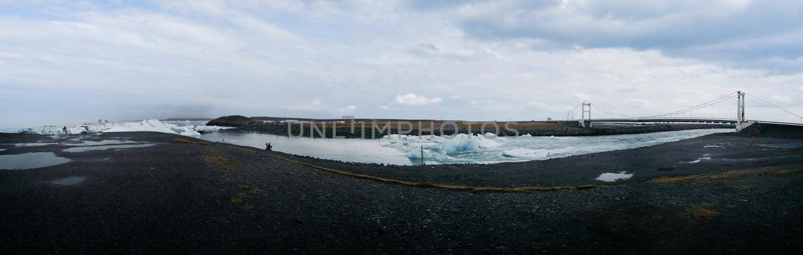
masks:
[[[760,103],[766,103],[769,106],[785,111],[786,114],[801,119],[801,123],[747,119],[745,118],[746,115],[744,111],[744,102],[747,96],[752,97],[752,99],[757,99]],[[736,101],[735,103],[733,102],[734,100]],[[578,110],[581,110],[579,114],[577,114]],[[592,112],[594,115],[592,115]],[[576,119],[578,115],[580,119]],[[741,131],[744,127],[750,126],[752,123],[778,123],[803,126],[803,117],[800,115],[742,91],[735,91],[731,94],[719,97],[718,99],[683,110],[647,116],[621,114],[599,107],[597,104],[583,102],[573,110],[569,110],[566,119],[577,120],[581,127],[592,127],[593,123],[732,123],[736,124],[736,132]]]

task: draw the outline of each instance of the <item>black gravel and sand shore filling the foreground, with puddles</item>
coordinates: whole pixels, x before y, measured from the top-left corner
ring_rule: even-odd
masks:
[[[101,140],[124,144],[87,143]],[[0,248],[800,253],[801,140],[749,140],[718,134],[544,161],[387,167],[154,132],[0,134],[0,156],[71,160],[0,170]],[[91,147],[100,148],[76,152]],[[634,176],[595,180],[603,172]]]

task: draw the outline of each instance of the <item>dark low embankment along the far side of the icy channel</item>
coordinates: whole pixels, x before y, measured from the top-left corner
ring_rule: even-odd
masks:
[[[342,125],[342,124],[341,124]],[[381,123],[379,123],[381,125]],[[302,125],[298,123],[259,123],[259,122],[251,122],[247,123],[241,127],[236,129],[230,129],[226,132],[264,132],[279,136],[287,136],[287,128],[290,127],[290,134],[291,136],[305,136],[305,137],[327,137],[332,138],[334,136],[343,136],[345,138],[381,138],[382,136],[388,134],[398,134],[399,129],[396,125],[393,125],[389,129],[382,130],[379,132],[383,126],[379,126],[376,128],[372,128],[370,123],[365,123],[365,127],[361,127],[359,123],[355,124],[355,128],[351,127],[336,127],[335,133],[332,134],[332,126],[327,126],[324,129],[323,127],[318,127],[317,131],[313,131],[311,127]],[[434,128],[434,135],[435,136],[451,136],[454,135],[454,127],[452,126],[444,126],[443,131],[441,132],[440,126]],[[732,124],[692,124],[692,123],[675,123],[675,124],[649,124],[649,125],[621,125],[621,124],[594,124],[594,127],[577,127],[577,122],[563,122],[558,125],[558,127],[549,127],[549,128],[527,128],[527,127],[516,127],[512,128],[519,132],[520,136],[525,134],[529,134],[531,136],[610,136],[610,135],[629,135],[629,134],[642,134],[642,133],[652,133],[652,132],[667,132],[667,131],[679,131],[679,130],[690,130],[690,129],[707,129],[707,128],[734,128]],[[303,129],[303,132],[302,132]],[[321,132],[324,132],[321,134]],[[402,132],[407,132],[411,135],[418,135],[418,129],[411,129],[407,130],[402,128]],[[516,132],[512,132],[510,130],[506,130],[504,124],[499,124],[499,131],[491,126],[488,125],[485,129],[485,132],[491,132],[495,134],[499,134],[499,136],[516,136]],[[459,128],[458,133],[467,134],[468,130],[466,128]],[[475,126],[472,129],[474,134],[483,134],[480,132],[479,125]],[[422,134],[429,135],[429,131],[422,131]]]

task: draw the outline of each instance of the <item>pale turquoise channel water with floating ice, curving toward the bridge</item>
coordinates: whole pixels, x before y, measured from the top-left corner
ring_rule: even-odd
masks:
[[[203,140],[226,142],[254,148],[271,143],[279,152],[328,160],[377,164],[491,164],[640,148],[686,140],[733,129],[696,129],[618,136],[519,136],[517,138],[462,135],[454,139],[439,136],[385,136],[382,139],[321,139],[287,137],[260,133],[211,132]],[[423,149],[423,151],[422,151]]]

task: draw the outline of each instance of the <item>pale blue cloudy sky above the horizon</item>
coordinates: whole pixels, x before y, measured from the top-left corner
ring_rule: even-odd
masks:
[[[340,115],[803,113],[800,1],[0,0],[0,128]],[[707,115],[735,111],[736,104]],[[748,118],[803,122],[748,98]]]

